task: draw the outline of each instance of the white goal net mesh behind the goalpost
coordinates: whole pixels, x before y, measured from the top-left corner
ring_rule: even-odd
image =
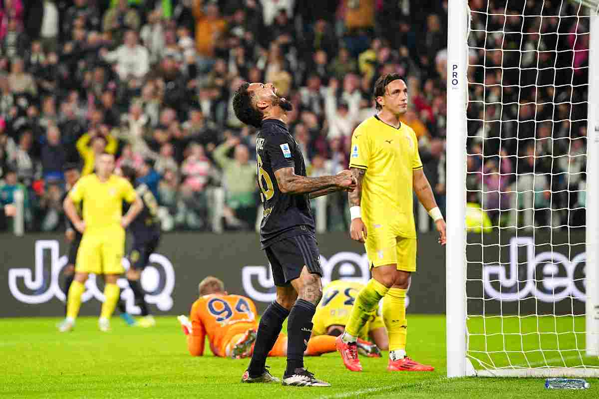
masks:
[[[471,0],[467,355],[474,368],[599,368],[585,355],[589,8]]]

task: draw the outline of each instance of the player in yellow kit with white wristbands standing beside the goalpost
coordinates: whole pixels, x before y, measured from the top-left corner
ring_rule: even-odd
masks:
[[[413,191],[435,221],[445,244],[445,221],[422,170],[418,141],[401,123],[408,89],[399,74],[380,77],[374,85],[379,112],[353,132],[350,169],[356,189],[349,194],[352,239],[365,243],[372,278],[356,296],[337,349],[344,365],[361,371],[356,339],[383,300],[383,321],[389,336],[390,371],[432,371],[406,356],[406,292],[416,271],[416,226]]]

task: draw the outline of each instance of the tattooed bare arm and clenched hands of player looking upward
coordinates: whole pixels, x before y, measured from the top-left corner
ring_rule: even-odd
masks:
[[[322,190],[349,190],[355,187],[349,170],[344,170],[335,176],[306,177],[295,174],[295,168],[282,167],[274,172],[279,190],[285,194],[307,194]],[[332,191],[328,191],[328,193]],[[328,194],[327,193],[327,194]],[[322,193],[321,195],[324,195]]]

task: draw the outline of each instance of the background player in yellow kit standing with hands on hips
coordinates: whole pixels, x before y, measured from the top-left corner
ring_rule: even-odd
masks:
[[[100,330],[110,330],[109,318],[120,295],[116,283],[124,271],[121,260],[125,253],[125,229],[143,209],[131,183],[113,172],[114,155],[100,154],[96,158],[96,173],[81,178],[63,202],[66,215],[83,237],[77,251],[75,281],[68,292],[66,319],[59,325],[61,332],[72,330],[75,324],[89,273],[104,275],[105,300],[98,324]],[[132,203],[125,216],[123,200]],[[81,201],[85,203],[83,220],[75,208]]]

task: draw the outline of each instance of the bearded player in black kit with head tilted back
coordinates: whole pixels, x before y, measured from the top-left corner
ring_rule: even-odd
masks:
[[[283,385],[331,386],[304,367],[312,316],[322,297],[322,269],[314,236],[310,198],[355,188],[349,170],[335,176],[306,177],[304,157],[289,134],[292,104],[276,95],[272,83],[244,83],[233,97],[235,115],[258,127],[256,163],[264,218],[260,241],[273,269],[276,301],[262,315],[252,360],[241,382],[279,382],[266,369],[268,352],[289,316],[287,368]]]

